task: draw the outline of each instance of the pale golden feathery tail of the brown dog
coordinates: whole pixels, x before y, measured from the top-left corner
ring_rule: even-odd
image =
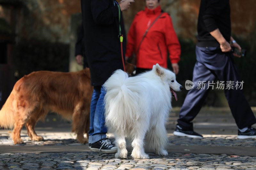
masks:
[[[10,96],[4,103],[0,110],[0,127],[5,129],[12,129],[14,126],[14,108],[12,106],[14,94],[11,92]]]

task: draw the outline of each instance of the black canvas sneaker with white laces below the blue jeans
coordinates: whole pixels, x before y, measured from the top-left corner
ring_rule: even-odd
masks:
[[[104,153],[116,153],[117,147],[115,147],[108,138],[104,138],[93,143],[90,150]]]

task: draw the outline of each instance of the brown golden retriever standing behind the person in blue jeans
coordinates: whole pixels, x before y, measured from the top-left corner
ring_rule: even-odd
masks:
[[[44,120],[49,111],[66,119],[72,119],[72,131],[80,143],[90,125],[90,103],[93,87],[90,70],[77,72],[36,71],[16,82],[13,90],[0,110],[0,127],[13,128],[14,144],[24,141],[20,138],[22,127],[26,126],[31,140],[42,141],[35,132],[36,122]]]

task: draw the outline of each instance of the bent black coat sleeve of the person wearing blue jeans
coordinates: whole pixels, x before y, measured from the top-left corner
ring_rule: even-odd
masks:
[[[95,23],[101,25],[109,25],[114,23],[118,16],[118,7],[109,4],[108,0],[91,0],[92,17]]]

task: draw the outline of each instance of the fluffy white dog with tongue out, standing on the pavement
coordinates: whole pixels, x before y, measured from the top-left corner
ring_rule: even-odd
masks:
[[[125,137],[132,142],[134,159],[148,159],[144,151],[144,138],[158,155],[168,155],[165,122],[172,108],[174,91],[181,91],[175,74],[158,64],[151,71],[128,77],[116,70],[106,81],[106,125],[114,133],[118,151],[116,158],[127,158]],[[172,93],[172,94],[171,94]]]

